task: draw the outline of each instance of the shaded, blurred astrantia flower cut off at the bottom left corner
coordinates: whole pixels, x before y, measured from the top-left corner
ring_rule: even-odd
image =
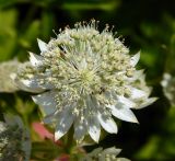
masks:
[[[5,115],[5,123],[0,122],[0,160],[28,161],[31,141],[18,116]]]

